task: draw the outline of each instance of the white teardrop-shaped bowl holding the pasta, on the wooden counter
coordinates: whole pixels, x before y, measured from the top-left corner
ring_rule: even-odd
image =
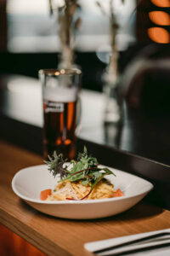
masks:
[[[124,212],[147,195],[153,185],[141,177],[109,167],[115,174],[107,178],[115,189],[122,189],[124,196],[99,200],[84,201],[41,201],[40,192],[54,189],[54,178],[48,167],[31,166],[14,175],[12,188],[14,193],[40,212],[60,218],[104,218]]]

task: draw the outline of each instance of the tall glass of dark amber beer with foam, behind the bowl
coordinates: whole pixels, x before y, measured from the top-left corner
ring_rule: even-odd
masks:
[[[46,160],[54,150],[68,160],[75,157],[81,74],[77,68],[39,71],[43,101],[43,153]]]

